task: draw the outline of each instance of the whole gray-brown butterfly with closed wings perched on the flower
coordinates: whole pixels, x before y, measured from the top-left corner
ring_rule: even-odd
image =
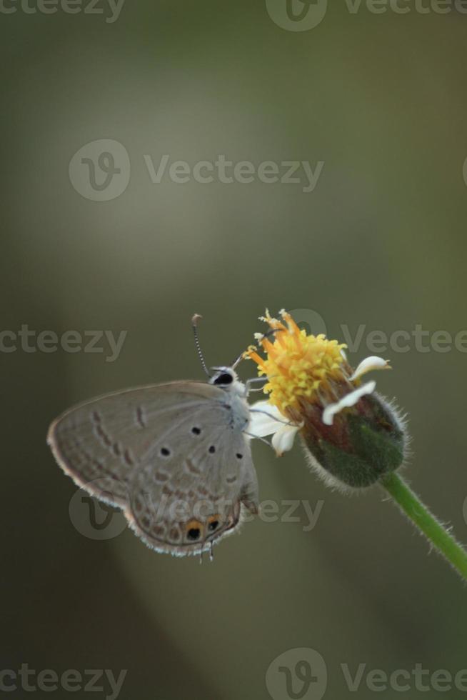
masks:
[[[238,381],[234,366],[214,368],[208,382],[142,386],[66,411],[47,438],[56,461],[91,495],[119,506],[148,546],[212,554],[238,529],[243,509],[258,512],[249,382]]]

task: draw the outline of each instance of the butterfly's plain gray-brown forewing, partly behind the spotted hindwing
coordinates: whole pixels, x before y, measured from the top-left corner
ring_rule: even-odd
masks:
[[[176,381],[106,394],[66,411],[51,424],[47,441],[76,484],[124,505],[129,476],[146,451],[221,393],[203,382]]]

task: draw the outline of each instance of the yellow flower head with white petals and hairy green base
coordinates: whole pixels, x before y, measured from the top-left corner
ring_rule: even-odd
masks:
[[[343,471],[352,471],[352,462],[361,474],[365,472],[359,481],[366,479],[369,483],[366,472],[372,467],[367,462],[373,456],[366,451],[370,443],[372,448],[378,440],[386,444],[389,436],[393,442],[388,447],[395,447],[397,452],[397,456],[391,452],[391,464],[403,452],[401,421],[381,397],[373,394],[376,382],[361,381],[368,371],[388,369],[388,362],[367,357],[353,371],[344,353],[345,344],[322,334],[307,334],[286,311],[280,316],[281,320],[273,319],[266,311],[261,320],[270,330],[255,336],[266,356],[261,356],[256,346],[245,353],[258,365],[259,376],[267,378],[263,391],[268,400],[251,406],[251,432],[261,437],[272,434],[277,454],[291,449],[300,432],[319,466],[324,461],[332,472],[336,461],[345,455]],[[387,461],[384,458],[381,464]],[[353,474],[346,474],[344,481],[355,481]]]

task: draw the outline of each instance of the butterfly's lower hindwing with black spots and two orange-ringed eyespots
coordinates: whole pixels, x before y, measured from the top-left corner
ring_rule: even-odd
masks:
[[[258,484],[248,439],[216,406],[189,419],[134,472],[126,518],[158,551],[199,554],[231,534],[243,507],[258,511]]]

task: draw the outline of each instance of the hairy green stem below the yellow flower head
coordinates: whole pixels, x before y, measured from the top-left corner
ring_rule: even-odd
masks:
[[[406,481],[395,471],[381,479],[382,486],[409,520],[426,536],[429,542],[446,557],[448,562],[467,580],[467,551],[421,502]]]

